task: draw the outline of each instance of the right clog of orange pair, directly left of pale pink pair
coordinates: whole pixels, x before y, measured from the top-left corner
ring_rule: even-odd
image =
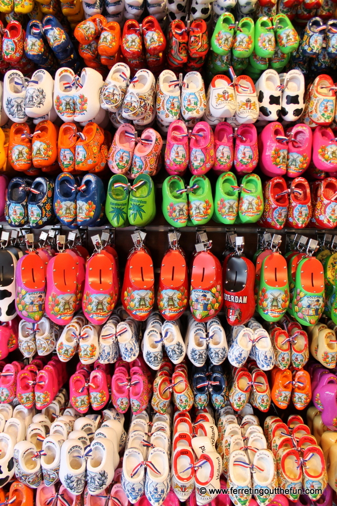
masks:
[[[101,147],[104,131],[97,123],[90,121],[84,126],[75,148],[75,167],[79,171],[90,171],[101,161]]]

